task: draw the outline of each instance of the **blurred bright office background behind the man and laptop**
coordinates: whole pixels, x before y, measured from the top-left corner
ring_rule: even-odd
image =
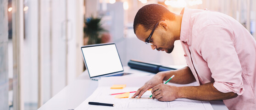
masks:
[[[136,12],[161,4],[218,11],[256,39],[256,0],[0,0],[0,110],[36,110],[83,71],[86,22],[99,18],[100,42],[117,45],[122,65],[131,59],[186,65],[179,41],[171,54],[152,50],[134,34]],[[95,44],[89,43],[89,44]]]

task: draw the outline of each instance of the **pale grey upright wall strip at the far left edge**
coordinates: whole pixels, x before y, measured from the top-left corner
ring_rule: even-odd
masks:
[[[9,109],[7,1],[0,1],[0,110]]]

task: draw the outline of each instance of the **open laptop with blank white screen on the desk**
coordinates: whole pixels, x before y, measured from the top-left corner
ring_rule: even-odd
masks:
[[[83,61],[92,80],[100,77],[123,76],[122,63],[117,52],[116,44],[92,44],[81,47]]]

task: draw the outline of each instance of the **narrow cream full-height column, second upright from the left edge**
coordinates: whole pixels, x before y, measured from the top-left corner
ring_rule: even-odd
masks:
[[[24,110],[22,99],[24,19],[23,0],[12,1],[12,44],[13,44],[13,109]]]

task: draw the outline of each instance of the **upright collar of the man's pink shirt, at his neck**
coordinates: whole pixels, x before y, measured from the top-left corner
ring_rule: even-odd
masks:
[[[191,13],[184,7],[180,14],[183,14],[180,28],[180,40],[189,44],[189,18]]]

